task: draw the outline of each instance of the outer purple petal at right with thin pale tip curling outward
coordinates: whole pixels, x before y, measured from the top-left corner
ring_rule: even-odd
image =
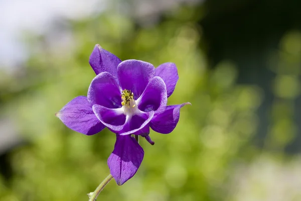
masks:
[[[150,122],[150,128],[162,134],[171,133],[177,126],[180,118],[180,109],[190,103],[167,106],[164,113],[156,115]]]

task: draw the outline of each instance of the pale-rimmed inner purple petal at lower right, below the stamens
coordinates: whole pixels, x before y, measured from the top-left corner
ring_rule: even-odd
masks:
[[[126,121],[124,127],[119,132],[119,135],[144,135],[149,133],[149,122],[153,119],[155,112],[141,112],[139,115],[134,115]]]

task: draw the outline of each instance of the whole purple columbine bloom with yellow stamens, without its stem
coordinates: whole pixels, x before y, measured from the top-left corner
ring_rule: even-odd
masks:
[[[148,136],[149,127],[158,133],[172,132],[179,121],[180,108],[188,103],[167,106],[167,98],[179,79],[174,63],[155,69],[144,61],[121,61],[99,45],[89,63],[97,75],[87,97],[75,97],[56,116],[68,128],[85,135],[94,135],[105,127],[116,134],[108,166],[121,185],[136,173],[144,155],[131,134],[154,144]]]

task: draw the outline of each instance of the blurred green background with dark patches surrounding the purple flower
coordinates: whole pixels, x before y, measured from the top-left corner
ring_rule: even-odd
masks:
[[[176,63],[169,105],[192,103],[171,134],[152,131],[154,146],[140,141],[135,176],[111,181],[97,200],[301,200],[300,1],[95,5],[80,18],[57,14],[44,32],[23,30],[27,56],[15,62],[13,46],[0,68],[1,201],[88,200],[109,174],[114,134],[85,136],[54,116],[86,95],[97,43],[121,60]]]

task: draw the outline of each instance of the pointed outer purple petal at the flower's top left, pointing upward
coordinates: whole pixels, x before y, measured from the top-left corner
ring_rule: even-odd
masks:
[[[96,75],[101,72],[109,72],[117,79],[117,66],[121,60],[114,54],[102,49],[100,45],[95,45],[90,56],[89,63]]]

